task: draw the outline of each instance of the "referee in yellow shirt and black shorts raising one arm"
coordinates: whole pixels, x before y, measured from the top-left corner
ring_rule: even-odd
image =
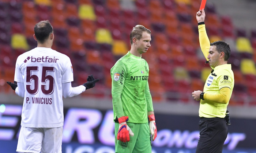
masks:
[[[225,114],[234,87],[231,64],[227,64],[230,47],[223,41],[210,43],[204,24],[204,9],[196,13],[196,19],[200,47],[204,57],[208,59],[206,63],[212,68],[203,92],[198,90],[192,93],[196,101],[200,100],[200,137],[196,153],[221,153],[228,131]]]

